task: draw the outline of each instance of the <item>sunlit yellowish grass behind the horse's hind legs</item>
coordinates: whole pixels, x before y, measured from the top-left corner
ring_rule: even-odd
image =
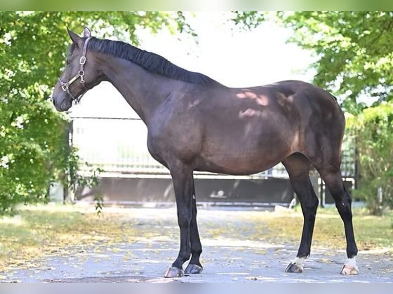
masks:
[[[256,234],[253,238],[266,238],[276,242],[298,244],[303,226],[301,212],[267,214],[253,220],[267,228],[267,235]],[[393,213],[382,217],[370,216],[364,209],[353,209],[353,229],[359,250],[386,249],[393,251]],[[266,229],[265,229],[266,230]],[[263,231],[262,231],[263,232]],[[343,222],[336,208],[319,209],[313,233],[312,245],[331,249],[345,249]]]

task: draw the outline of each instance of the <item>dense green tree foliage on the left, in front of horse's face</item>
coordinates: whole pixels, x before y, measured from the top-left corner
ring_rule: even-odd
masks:
[[[64,64],[66,27],[85,25],[134,44],[143,28],[192,31],[172,12],[0,12],[0,216],[18,203],[46,201],[50,183],[67,179],[75,156],[68,121],[47,98]]]

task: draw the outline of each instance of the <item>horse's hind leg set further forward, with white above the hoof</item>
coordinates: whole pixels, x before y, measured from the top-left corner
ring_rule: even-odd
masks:
[[[310,255],[312,233],[318,208],[318,198],[309,178],[310,162],[300,153],[283,160],[291,185],[299,198],[303,213],[303,231],[296,258],[287,266],[287,272],[302,272],[303,261]]]

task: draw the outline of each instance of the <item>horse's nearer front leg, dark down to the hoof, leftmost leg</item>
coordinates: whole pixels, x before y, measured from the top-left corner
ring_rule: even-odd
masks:
[[[186,165],[178,163],[170,166],[173,189],[178,209],[178,224],[180,228],[180,250],[178,258],[165,273],[165,278],[182,277],[184,275],[183,263],[191,256],[190,222],[192,218],[192,170]]]

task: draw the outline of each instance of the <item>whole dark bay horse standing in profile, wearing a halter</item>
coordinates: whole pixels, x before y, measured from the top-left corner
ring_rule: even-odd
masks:
[[[335,97],[301,81],[228,88],[179,68],[154,53],[121,41],[68,31],[72,45],[53,92],[57,111],[109,81],[148,129],[150,154],[172,176],[180,227],[180,251],[165,277],[202,271],[193,171],[248,175],[282,162],[304,217],[297,257],[287,272],[301,272],[310,255],[318,198],[309,179],[314,166],[336,201],[346,236],[341,274],[358,273],[351,198],[341,172],[345,118]],[[183,263],[190,259],[183,271]]]

